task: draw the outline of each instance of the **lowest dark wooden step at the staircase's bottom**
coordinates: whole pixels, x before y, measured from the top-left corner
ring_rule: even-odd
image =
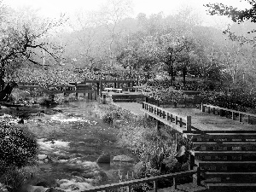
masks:
[[[207,188],[223,192],[253,192],[256,189],[256,183],[208,183]]]

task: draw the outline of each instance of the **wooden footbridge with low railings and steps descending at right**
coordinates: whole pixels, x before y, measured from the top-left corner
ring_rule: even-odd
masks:
[[[256,189],[255,114],[207,104],[200,110],[143,102],[142,110],[192,140],[191,167],[210,189]]]

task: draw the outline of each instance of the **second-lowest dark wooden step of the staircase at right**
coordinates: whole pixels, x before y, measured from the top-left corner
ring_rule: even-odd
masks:
[[[256,172],[205,172],[205,183],[256,183]]]

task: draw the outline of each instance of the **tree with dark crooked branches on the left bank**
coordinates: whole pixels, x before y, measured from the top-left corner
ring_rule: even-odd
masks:
[[[42,51],[57,63],[60,62],[60,46],[51,44],[47,38],[65,20],[64,15],[59,20],[42,19],[32,9],[20,12],[5,9],[0,30],[0,90],[3,89],[6,69],[11,63],[30,61],[42,66],[39,60]]]

